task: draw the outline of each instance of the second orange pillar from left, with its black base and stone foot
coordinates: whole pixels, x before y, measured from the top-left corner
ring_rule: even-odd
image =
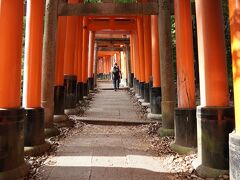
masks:
[[[45,143],[44,109],[41,107],[41,75],[43,47],[44,2],[27,1],[23,107],[25,154],[42,154],[49,148]],[[41,147],[41,150],[39,150]]]

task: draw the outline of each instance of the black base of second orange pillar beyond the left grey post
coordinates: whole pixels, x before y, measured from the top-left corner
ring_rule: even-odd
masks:
[[[76,107],[77,103],[77,77],[75,75],[64,75],[65,109]]]

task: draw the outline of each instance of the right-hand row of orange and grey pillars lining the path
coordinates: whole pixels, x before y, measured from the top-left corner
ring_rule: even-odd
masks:
[[[150,102],[149,118],[162,119],[160,136],[175,135],[173,150],[198,152],[193,164],[202,176],[218,177],[228,172],[230,164],[231,178],[240,178],[239,3],[229,1],[235,118],[234,108],[229,105],[221,1],[195,1],[200,79],[197,107],[191,1],[174,1],[176,89],[171,56],[171,2],[159,1],[158,16],[138,16],[137,31],[131,34],[131,72],[136,96],[145,104]]]

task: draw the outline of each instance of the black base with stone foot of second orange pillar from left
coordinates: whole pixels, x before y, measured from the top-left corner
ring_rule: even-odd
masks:
[[[44,135],[44,109],[39,107],[26,108],[25,110],[24,146],[27,147],[29,154],[41,155],[47,150],[47,147],[49,148],[46,146]]]

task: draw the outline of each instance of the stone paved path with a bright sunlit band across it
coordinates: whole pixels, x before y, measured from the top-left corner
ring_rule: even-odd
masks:
[[[97,95],[86,116],[139,119],[127,93],[110,90]],[[61,144],[56,156],[49,157],[41,168],[42,179],[174,179],[164,159],[149,150],[151,142],[143,126],[89,124]]]

